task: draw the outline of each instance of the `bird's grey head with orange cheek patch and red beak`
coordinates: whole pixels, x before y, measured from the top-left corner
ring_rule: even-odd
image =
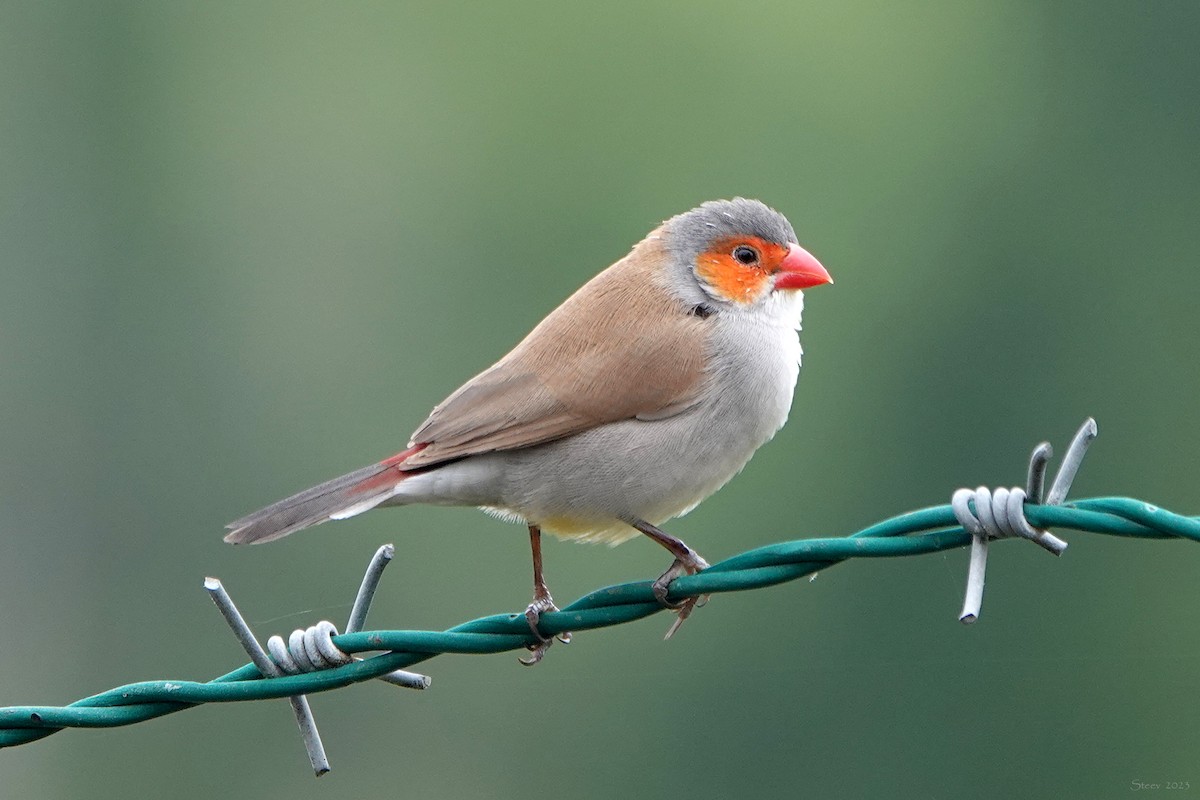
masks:
[[[710,200],[662,224],[667,248],[715,303],[763,305],[779,291],[833,283],[787,218],[758,200]]]

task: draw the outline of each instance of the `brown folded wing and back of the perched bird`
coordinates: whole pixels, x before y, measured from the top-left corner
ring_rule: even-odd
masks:
[[[652,235],[568,297],[433,409],[413,434],[413,444],[428,446],[403,467],[527,447],[691,405],[707,325],[667,289],[666,258]]]

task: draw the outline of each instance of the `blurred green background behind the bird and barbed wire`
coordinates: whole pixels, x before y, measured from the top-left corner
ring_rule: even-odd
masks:
[[[1054,5],[1054,7],[1049,7]],[[246,511],[403,446],[660,219],[787,213],[791,425],[671,530],[710,560],[1022,481],[1200,512],[1200,6],[50,2],[0,7],[0,704],[245,661],[344,620],[528,601],[521,529],[404,509],[262,548]],[[0,753],[4,796],[1122,796],[1200,792],[1200,549],[1069,535],[851,564],[445,657],[413,693],[203,708]],[[551,543],[560,601],[659,548]]]

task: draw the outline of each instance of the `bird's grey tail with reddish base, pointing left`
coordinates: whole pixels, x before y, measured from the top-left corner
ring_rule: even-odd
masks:
[[[390,498],[396,485],[412,474],[400,464],[424,447],[416,445],[235,519],[226,525],[229,533],[224,540],[233,545],[271,542],[326,519],[346,519],[368,511]]]

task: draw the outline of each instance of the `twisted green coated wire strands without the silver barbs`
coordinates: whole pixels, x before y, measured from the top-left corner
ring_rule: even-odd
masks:
[[[1111,536],[1200,541],[1200,517],[1186,517],[1130,498],[1093,498],[1064,505],[1025,505],[1036,528],[1066,528]],[[949,505],[922,509],[870,525],[851,536],[768,545],[676,578],[668,599],[743,591],[812,575],[854,558],[896,558],[964,547],[971,535]],[[541,615],[544,634],[620,625],[664,610],[652,582],[598,589],[558,612]],[[448,631],[342,633],[344,652],[385,651],[320,672],[263,678],[246,664],[209,682],[154,680],[128,684],[66,706],[0,708],[0,747],[23,745],[64,728],[110,728],[144,722],[200,703],[263,700],[311,694],[371,680],[442,654],[492,654],[536,644],[523,613],[494,614]]]

